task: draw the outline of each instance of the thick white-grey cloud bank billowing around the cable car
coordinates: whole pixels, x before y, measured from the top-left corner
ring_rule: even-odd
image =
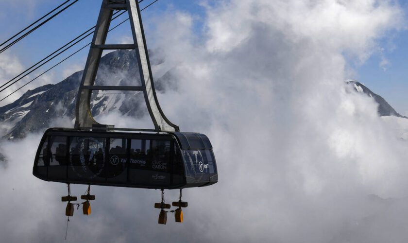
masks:
[[[372,98],[344,85],[345,56],[364,62],[379,38],[402,27],[398,5],[203,7],[200,36],[188,13],[157,19],[154,37],[166,54],[160,68],[176,67],[178,82],[158,98],[170,121],[211,139],[219,183],[185,190],[185,223],[169,217],[167,226],[156,224],[159,191],[93,187],[92,215],[75,211],[68,242],[406,242],[407,142],[393,126],[405,123],[380,119]],[[9,157],[0,176],[4,242],[64,238],[58,196],[66,187],[31,174],[38,141],[32,135],[2,148]],[[80,195],[85,186],[73,190]]]

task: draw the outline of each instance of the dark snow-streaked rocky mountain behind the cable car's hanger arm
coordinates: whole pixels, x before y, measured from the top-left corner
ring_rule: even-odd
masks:
[[[152,66],[163,63],[163,58],[159,53],[155,53],[150,53]],[[10,126],[8,131],[3,131],[3,138],[24,138],[31,132],[39,132],[50,127],[50,122],[56,118],[74,120],[76,96],[82,74],[83,71],[78,71],[58,84],[28,90],[17,101],[0,107],[0,122]],[[161,84],[162,82],[165,85]],[[171,84],[176,87],[170,72],[155,80],[155,84],[157,92],[164,92],[164,88]],[[101,58],[95,85],[141,85],[136,52],[119,50],[104,55]],[[143,94],[132,92],[123,94],[117,91],[95,90],[91,99],[92,115],[97,116],[113,110],[136,118],[148,115]]]

